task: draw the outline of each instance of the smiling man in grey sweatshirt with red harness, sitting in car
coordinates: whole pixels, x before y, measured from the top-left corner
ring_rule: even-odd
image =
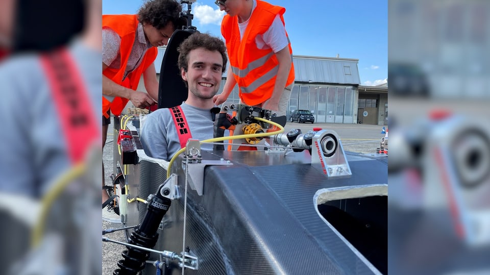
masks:
[[[182,148],[175,117],[185,117],[192,138],[213,137],[211,108],[227,63],[225,43],[209,34],[193,33],[179,47],[179,69],[188,87],[187,100],[178,108],[158,109],[149,114],[141,128],[146,155],[169,161]],[[177,120],[176,120],[177,121]],[[180,129],[179,129],[180,130]],[[179,131],[180,132],[180,131]],[[203,144],[203,150],[212,150]]]

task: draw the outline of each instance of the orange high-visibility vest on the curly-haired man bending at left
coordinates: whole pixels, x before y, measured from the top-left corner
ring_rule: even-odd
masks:
[[[136,14],[121,14],[121,15],[102,15],[102,27],[108,27],[116,32],[121,38],[119,51],[121,53],[121,66],[118,69],[107,68],[102,73],[115,83],[136,90],[138,87],[141,74],[153,64],[157,58],[158,49],[156,47],[149,48],[141,60],[141,64],[128,74],[126,79],[122,81],[126,66],[128,64],[131,49],[136,38],[136,29],[138,28],[138,15]],[[102,96],[102,114],[107,117],[107,111],[111,110],[114,115],[119,115],[122,109],[128,103],[127,98],[115,97],[112,102]]]

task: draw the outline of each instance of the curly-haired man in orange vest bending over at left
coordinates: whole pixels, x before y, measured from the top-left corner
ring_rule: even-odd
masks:
[[[138,14],[102,16],[102,144],[105,146],[110,113],[120,115],[128,101],[137,108],[155,106],[158,81],[154,61],[157,47],[168,43],[176,29],[185,23],[182,6],[175,0],[150,0]],[[148,93],[136,91],[143,76]],[[103,169],[104,171],[104,169]],[[113,198],[104,190],[102,174],[103,219],[119,222]]]

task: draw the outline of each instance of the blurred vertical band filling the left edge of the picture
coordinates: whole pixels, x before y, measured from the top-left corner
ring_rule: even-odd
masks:
[[[0,37],[10,51],[0,63],[6,273],[102,268],[100,223],[91,222],[100,220],[101,10],[101,0],[0,2]]]

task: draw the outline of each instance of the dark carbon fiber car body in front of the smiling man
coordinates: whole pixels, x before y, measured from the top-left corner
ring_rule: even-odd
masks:
[[[187,188],[185,246],[198,256],[199,269],[186,274],[378,273],[318,215],[313,196],[324,188],[386,184],[387,158],[348,154],[352,176],[336,179],[312,168],[307,152],[203,152],[203,159],[220,158],[233,165],[207,166],[202,196]],[[173,172],[184,194],[181,162]],[[131,173],[131,190],[148,194],[166,170],[142,158]],[[129,211],[129,224],[142,217],[141,206],[138,216]],[[184,197],[172,202],[163,220],[155,249],[182,252]],[[167,274],[181,273],[175,262],[169,264]],[[155,268],[148,265],[143,273],[155,274]]]

